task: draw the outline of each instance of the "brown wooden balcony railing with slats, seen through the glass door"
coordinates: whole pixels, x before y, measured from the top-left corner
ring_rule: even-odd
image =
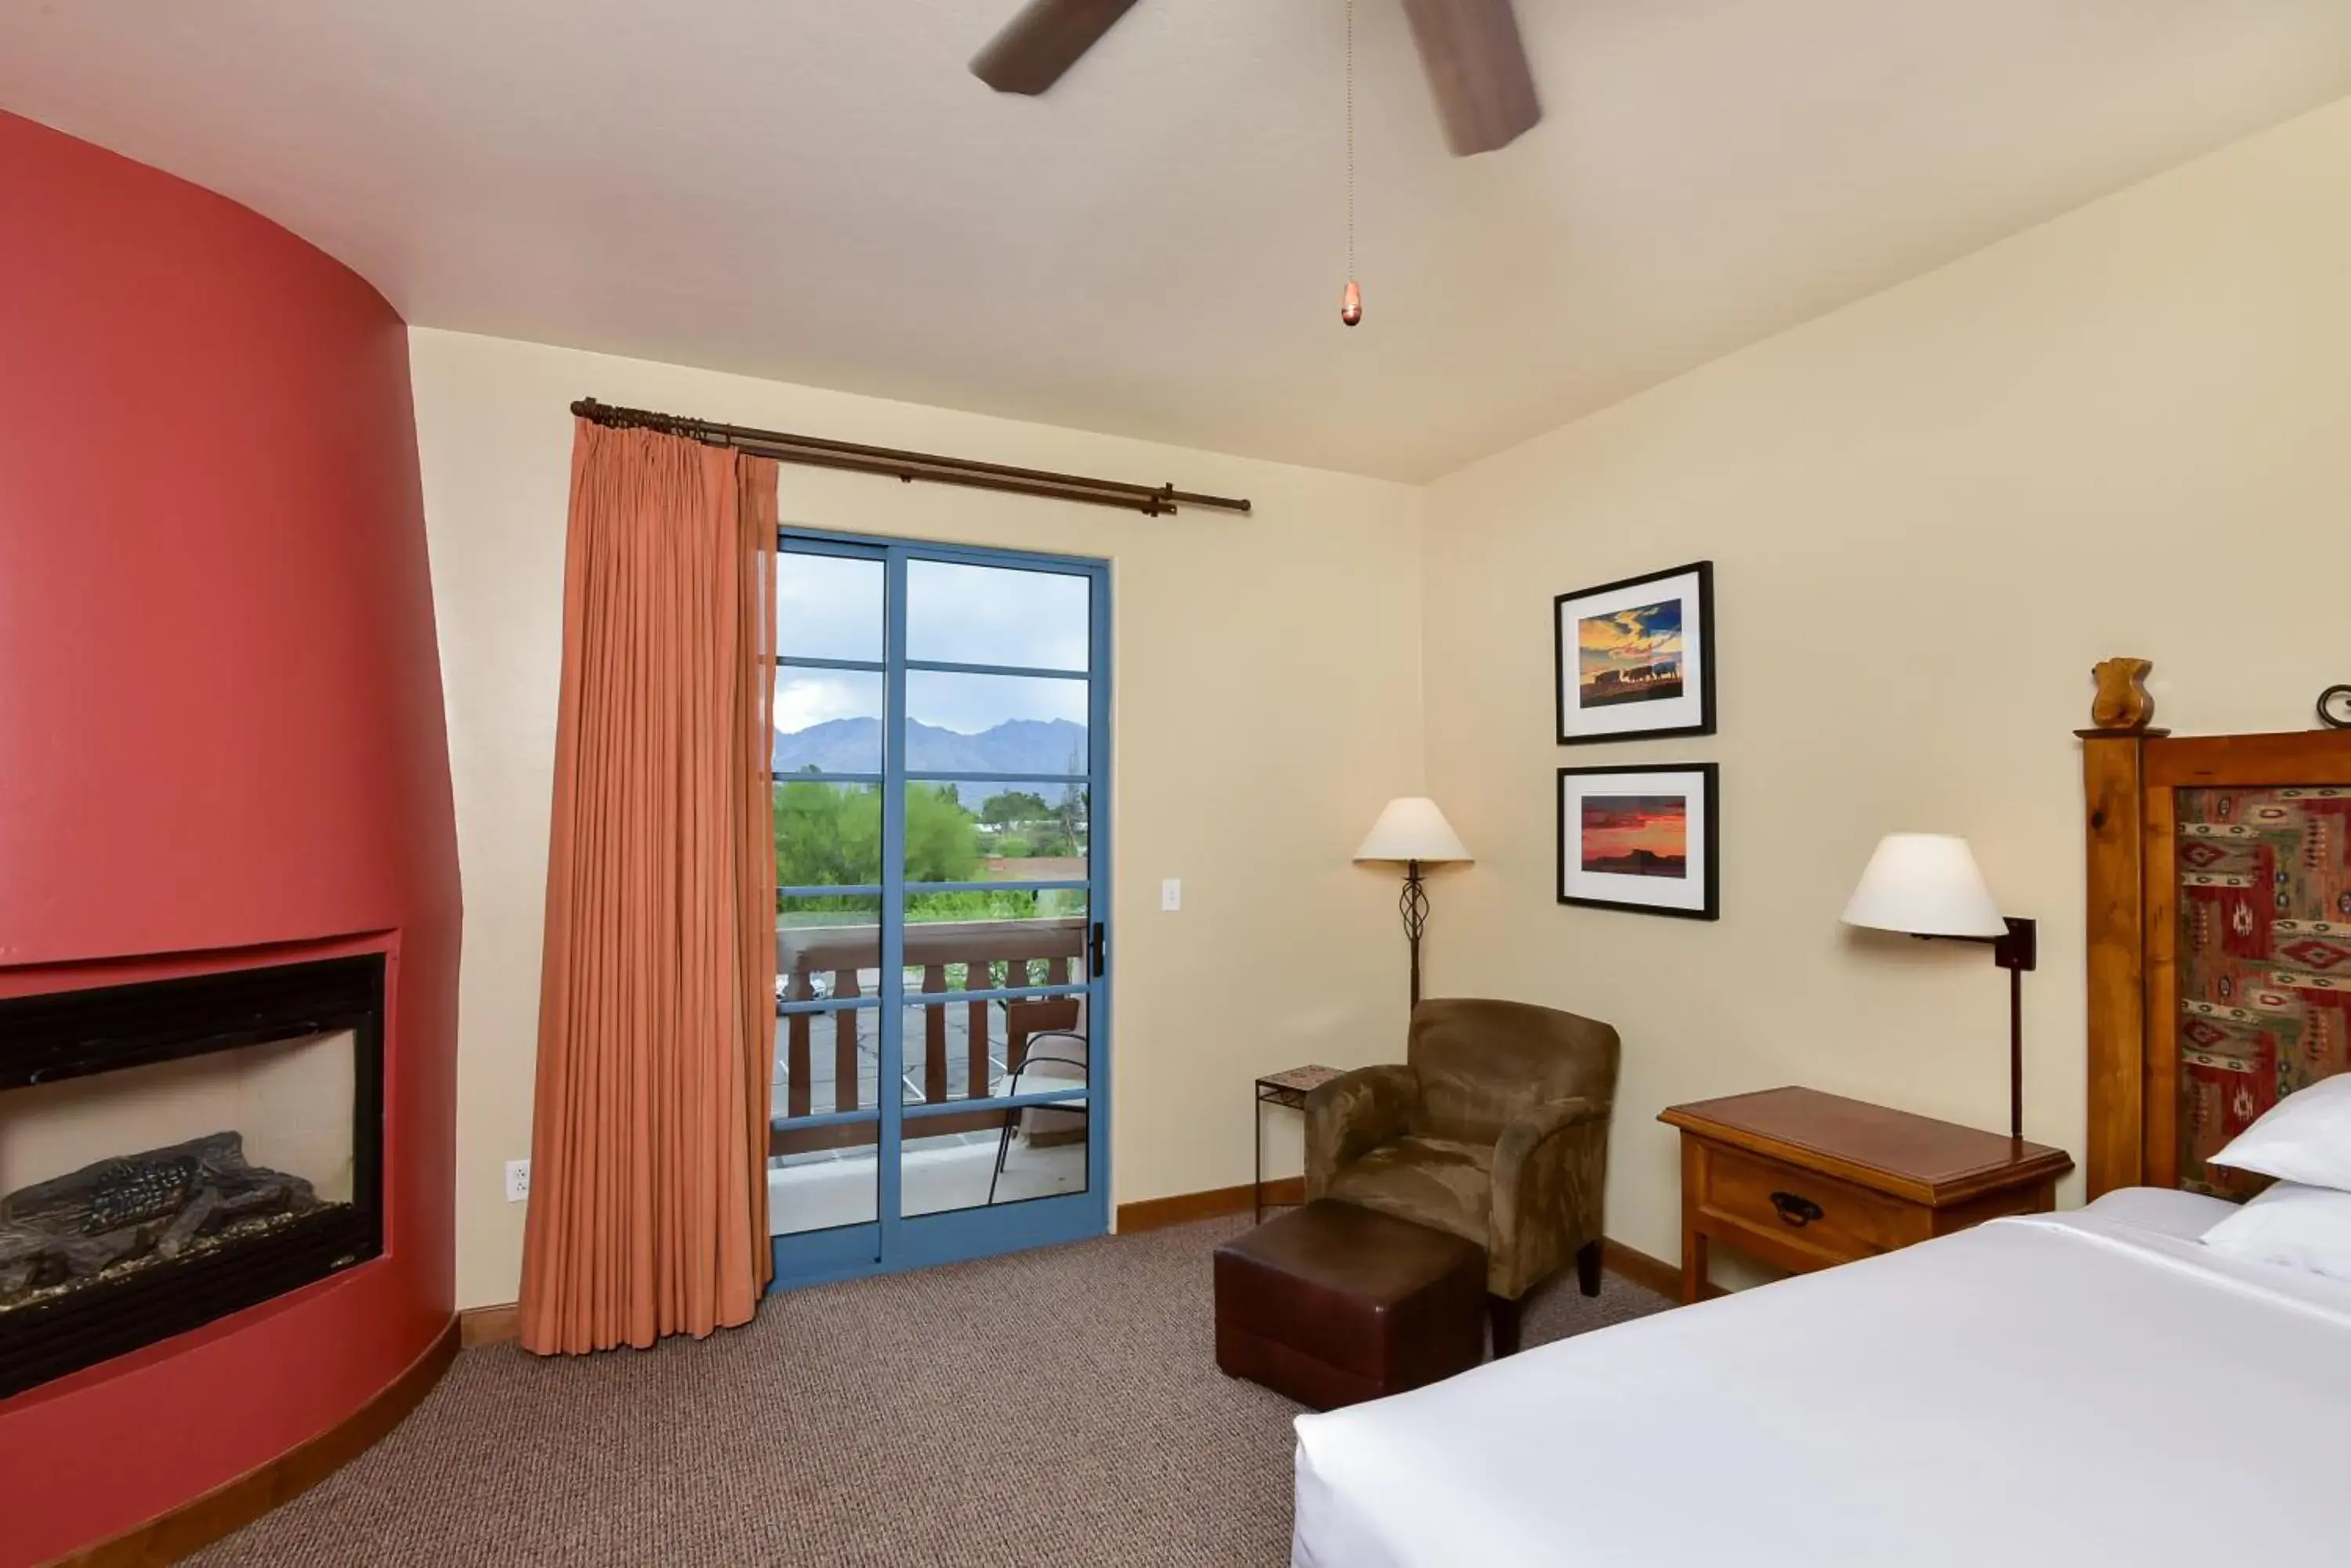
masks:
[[[955,1077],[962,1077],[964,1098],[985,1098],[997,1074],[994,1051],[994,1001],[969,1001],[962,992],[1004,990],[1018,985],[1070,985],[1084,980],[1086,922],[1063,919],[980,919],[955,924],[910,924],[905,929],[905,966],[922,971],[922,990],[905,994],[907,1009],[922,1009],[922,1100],[943,1105],[955,1093]],[[997,966],[1004,966],[1002,980]],[[962,985],[952,985],[952,969],[962,966]],[[856,1001],[877,992],[882,980],[882,929],[879,926],[785,926],[776,931],[776,976],[783,1001]],[[912,973],[910,973],[912,978]],[[936,1001],[933,1001],[936,997]],[[1077,1023],[1074,997],[1013,999],[1004,1006],[1004,1072],[1020,1065],[1027,1037],[1041,1030],[1065,1030]],[[952,1011],[964,1009],[964,1027],[952,1030]],[[792,1011],[783,1018],[783,1117],[809,1117],[823,1112],[870,1110],[858,1098],[858,1016],[872,1009],[837,1009],[832,1013]],[[905,1058],[907,1088],[915,1079],[915,1030],[907,1020]],[[832,1048],[832,1105],[816,1105],[813,1063],[818,1034],[830,1032]],[[962,1041],[955,1041],[962,1034]],[[959,1048],[950,1048],[957,1044]],[[962,1060],[955,1060],[962,1058]],[[886,1086],[882,1086],[886,1093]],[[957,1126],[947,1126],[947,1121]],[[962,1117],[943,1117],[926,1124],[926,1131],[959,1131]],[[994,1117],[978,1112],[973,1126],[994,1126]],[[792,1145],[809,1143],[806,1128],[792,1135]],[[832,1128],[853,1143],[868,1143],[870,1128]],[[778,1138],[785,1133],[778,1131]],[[830,1140],[828,1140],[830,1143]],[[809,1145],[816,1147],[816,1145]],[[785,1152],[778,1147],[776,1152]]]

